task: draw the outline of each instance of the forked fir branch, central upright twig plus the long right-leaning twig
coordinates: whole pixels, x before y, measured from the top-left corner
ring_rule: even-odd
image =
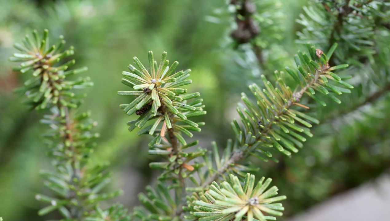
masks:
[[[218,155],[218,149],[216,145],[213,144],[213,155],[215,156],[215,162],[218,166],[217,170],[213,169],[209,158],[205,156],[205,150],[199,149],[199,151],[194,153],[184,153],[182,151],[183,149],[187,148],[188,145],[179,132],[189,134],[187,129],[197,130],[196,128],[199,126],[199,124],[188,121],[186,117],[203,115],[205,113],[201,108],[197,109],[195,106],[191,106],[194,103],[199,103],[199,101],[194,101],[193,103],[189,104],[175,103],[175,105],[179,107],[177,110],[175,110],[176,108],[174,109],[170,107],[170,105],[174,104],[175,102],[173,99],[176,99],[177,101],[183,101],[192,98],[193,96],[199,96],[199,94],[194,93],[189,95],[181,95],[181,93],[184,92],[182,89],[172,90],[172,84],[183,85],[181,81],[185,81],[185,78],[180,79],[179,82],[176,82],[175,79],[172,84],[165,83],[168,81],[166,79],[172,78],[170,75],[173,73],[172,71],[169,71],[171,67],[168,67],[167,65],[168,61],[165,60],[165,52],[162,55],[160,66],[158,66],[157,62],[154,61],[152,52],[149,52],[149,70],[147,70],[139,62],[138,58],[134,58],[141,71],[130,66],[131,72],[123,73],[123,75],[127,77],[128,80],[122,79],[122,82],[125,85],[133,87],[136,91],[119,91],[118,94],[136,95],[138,97],[130,104],[121,104],[120,107],[123,108],[124,111],[128,113],[128,115],[131,115],[132,113],[140,114],[140,117],[137,120],[128,122],[130,131],[133,130],[135,126],[140,128],[144,127],[144,129],[141,129],[141,131],[138,132],[139,135],[144,133],[154,135],[153,140],[151,143],[149,143],[149,154],[161,155],[162,157],[166,158],[168,162],[151,163],[150,166],[153,168],[162,168],[165,170],[161,174],[160,179],[172,181],[172,186],[168,186],[168,188],[176,189],[176,200],[178,200],[178,194],[181,193],[183,194],[181,196],[185,196],[184,190],[191,191],[192,189],[194,191],[204,191],[204,189],[207,189],[211,183],[217,180],[220,176],[223,176],[225,173],[227,173],[227,171],[232,170],[236,173],[242,174],[242,170],[251,170],[248,167],[237,164],[238,161],[243,159],[243,157],[247,157],[249,154],[254,154],[255,156],[256,154],[266,154],[268,157],[271,157],[269,152],[267,152],[265,149],[263,150],[261,147],[273,147],[286,155],[291,154],[289,150],[297,152],[298,149],[296,149],[294,146],[296,145],[301,147],[302,144],[296,139],[305,141],[305,138],[293,131],[289,131],[290,129],[287,129],[285,126],[290,127],[291,130],[294,129],[298,132],[305,133],[308,136],[312,136],[312,134],[307,129],[307,127],[311,127],[311,124],[306,120],[316,124],[318,124],[318,120],[303,114],[298,110],[292,109],[291,107],[296,105],[298,108],[307,108],[304,104],[300,104],[303,94],[308,94],[319,104],[326,105],[319,97],[314,95],[315,90],[339,103],[339,99],[332,95],[328,90],[331,90],[336,94],[341,94],[342,92],[349,92],[349,89],[335,86],[330,82],[339,83],[346,88],[353,88],[348,83],[342,81],[337,74],[332,72],[333,70],[345,68],[348,66],[329,66],[328,60],[331,58],[334,50],[335,46],[332,47],[332,49],[328,52],[330,56],[327,57],[321,50],[316,50],[314,46],[308,44],[308,51],[310,56],[306,53],[302,53],[300,51],[298,52],[298,55],[296,55],[298,72],[292,71],[286,67],[287,73],[298,83],[298,85],[300,85],[294,90],[294,92],[291,92],[291,89],[284,84],[284,81],[282,80],[281,74],[279,72],[275,72],[279,86],[277,88],[274,88],[273,85],[266,80],[265,76],[262,76],[262,80],[266,89],[261,90],[257,85],[250,86],[252,93],[257,99],[257,107],[249,101],[245,94],[243,94],[242,99],[246,105],[246,108],[241,104],[239,104],[238,108],[243,126],[240,127],[236,121],[234,121],[232,124],[234,132],[236,133],[234,149],[232,149],[231,144],[228,142],[228,148],[226,149],[227,151],[225,151],[222,160]],[[174,66],[176,67],[176,65]],[[162,72],[164,69],[166,71]],[[180,71],[174,75],[176,76],[182,74],[183,71]],[[160,78],[160,76],[163,77]],[[155,78],[159,79],[155,80]],[[160,83],[157,84],[157,81]],[[171,91],[172,94],[170,94],[169,91]],[[179,95],[176,94],[176,91],[179,92]],[[158,93],[157,95],[156,92]],[[152,93],[150,97],[148,97],[149,93]],[[145,107],[145,104],[148,106]],[[151,106],[152,109],[149,109]],[[303,118],[305,120],[303,120]],[[148,120],[151,120],[152,123],[149,124],[149,126],[145,126]],[[159,127],[161,129],[157,129],[161,122],[162,126]],[[176,124],[177,122],[184,122],[188,124],[188,126],[179,126]],[[184,127],[187,129],[183,130]],[[167,132],[169,140],[165,138],[165,132]],[[191,134],[189,136],[191,136]],[[191,144],[191,146],[196,144],[197,142]],[[230,155],[230,153],[232,154]],[[195,162],[195,164],[191,166],[187,163],[191,159],[194,159],[198,156],[204,157],[204,164]],[[201,179],[201,183],[199,184],[191,174],[195,171],[199,174],[202,173],[200,168],[205,164],[209,167],[210,176],[203,180],[204,176],[199,175]],[[238,167],[235,168],[236,166],[234,165]],[[188,171],[191,181],[194,182],[197,187],[185,187],[184,179],[188,175],[185,171],[183,171],[184,169]],[[178,181],[178,183],[176,183],[176,181]],[[162,187],[164,185],[165,184],[163,183],[158,184],[158,189],[161,191],[164,188]],[[151,187],[148,188],[150,189]],[[147,189],[147,191],[149,192],[148,196],[140,194],[139,198],[151,213],[148,214],[144,210],[137,208],[134,212],[136,217],[140,219],[151,219],[152,217],[157,219],[158,217],[158,219],[161,220],[181,220],[183,217],[191,220],[196,219],[195,217],[184,216],[186,212],[193,211],[194,208],[197,208],[196,206],[193,207],[191,204],[191,199],[193,199],[194,196],[186,197],[188,202],[188,206],[186,207],[182,207],[183,198],[180,198],[178,202],[172,203],[170,208],[161,208],[163,210],[160,212],[159,202],[163,199],[158,199],[152,194],[150,190]],[[170,201],[170,196],[168,195],[168,193],[165,194],[165,197],[168,199],[168,201]],[[154,202],[154,200],[157,201]]]

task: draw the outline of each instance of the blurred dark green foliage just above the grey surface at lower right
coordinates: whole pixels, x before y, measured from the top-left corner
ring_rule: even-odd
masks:
[[[309,206],[334,194],[346,191],[346,189],[356,187],[362,182],[362,177],[374,179],[383,173],[384,168],[381,165],[389,165],[390,163],[387,139],[389,127],[388,124],[386,125],[388,122],[386,113],[390,110],[388,95],[387,93],[374,103],[365,104],[346,115],[332,118],[330,122],[321,122],[320,126],[313,128],[314,133],[318,136],[315,140],[308,140],[307,144],[307,147],[310,145],[317,148],[307,149],[304,155],[300,154],[294,157],[293,161],[282,164],[282,167],[271,168],[267,171],[268,176],[284,170],[289,171],[290,174],[296,174],[299,171],[301,176],[293,175],[293,179],[299,185],[294,185],[293,188],[296,189],[297,193],[305,193],[305,198],[310,199],[308,202],[300,203],[300,205]],[[348,103],[344,104],[349,105]],[[375,139],[372,139],[373,136]],[[328,154],[322,154],[324,152]],[[313,164],[308,168],[305,168],[307,166],[305,156],[313,156],[314,158]],[[353,164],[354,167],[343,168],[342,165],[346,164]],[[292,167],[293,165],[297,167]],[[302,170],[302,168],[304,169]],[[356,173],[358,171],[363,172]],[[346,176],[348,173],[355,175]],[[307,177],[314,179],[307,179]],[[322,182],[321,185],[324,185],[325,189],[332,191],[317,194],[307,189],[316,183],[314,181],[316,177],[337,179],[337,182]],[[273,178],[278,179],[280,184],[288,183],[283,177]],[[285,188],[278,187],[279,189]],[[297,198],[296,201],[300,202],[300,198]]]

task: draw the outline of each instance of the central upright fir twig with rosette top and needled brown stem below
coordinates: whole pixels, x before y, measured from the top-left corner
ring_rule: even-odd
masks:
[[[150,166],[165,168],[167,173],[168,171],[180,173],[179,177],[185,177],[186,174],[182,168],[188,171],[197,168],[199,165],[189,163],[195,157],[204,154],[205,151],[198,149],[190,154],[184,152],[184,149],[196,145],[196,143],[187,144],[181,133],[192,137],[193,134],[190,131],[199,132],[199,126],[204,125],[204,123],[197,124],[187,118],[205,115],[206,111],[202,109],[204,107],[202,99],[187,103],[189,99],[199,97],[199,93],[183,95],[187,90],[177,88],[192,83],[191,80],[186,80],[190,76],[190,69],[174,73],[179,62],[175,61],[168,67],[169,61],[165,59],[166,57],[167,52],[163,52],[160,65],[157,66],[152,51],[149,51],[149,71],[137,57],[134,57],[135,63],[141,71],[133,65],[129,65],[131,72],[122,72],[122,75],[129,80],[122,79],[122,83],[132,87],[135,91],[118,91],[118,94],[138,97],[129,104],[121,104],[120,107],[127,115],[134,113],[140,115],[137,120],[128,122],[129,131],[135,127],[142,128],[149,120],[154,120],[152,124],[144,127],[137,134],[155,135],[149,143],[149,154],[169,156],[169,160],[164,163],[151,163]],[[160,124],[162,124],[161,127],[159,127]],[[165,138],[166,133],[168,133],[169,141]]]

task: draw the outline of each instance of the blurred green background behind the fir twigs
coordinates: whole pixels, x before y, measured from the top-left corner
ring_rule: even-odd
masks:
[[[307,0],[281,3],[278,10],[283,16],[278,25],[284,31],[279,33],[282,41],[275,44],[285,58],[270,59],[274,63],[268,64],[278,70],[292,65],[294,53],[303,47],[294,43],[295,33],[302,28],[295,19]],[[94,87],[85,91],[88,96],[81,107],[91,110],[99,123],[101,138],[93,162],[111,162],[110,188],[125,191],[115,201],[131,208],[138,205],[137,193],[158,175],[147,166],[152,161],[146,148],[149,138],[129,133],[126,122],[130,117],[118,108],[128,99],[116,95],[117,90],[126,90],[120,82],[121,72],[134,56],[144,62],[149,50],[156,55],[167,51],[168,59],[178,60],[180,69],[192,69],[189,91],[201,93],[207,110],[200,119],[206,126],[193,138],[199,139],[202,147],[209,148],[212,140],[222,147],[232,138],[230,121],[236,117],[240,93],[247,91],[250,83],[260,82],[259,74],[243,68],[243,58],[226,46],[229,17],[220,16],[219,23],[209,21],[221,7],[225,7],[224,1],[0,1],[0,216],[5,221],[57,216],[37,215],[42,205],[34,195],[46,191],[39,170],[50,168],[50,161],[40,137],[44,131],[40,115],[29,112],[21,104],[23,99],[12,94],[28,78],[12,71],[14,64],[7,60],[16,52],[14,42],[34,29],[48,28],[51,39],[62,34],[67,46],[75,47],[76,64],[89,67],[87,75],[94,82]],[[389,88],[372,100],[362,90],[358,87],[353,96],[347,95],[346,103],[335,110],[334,105],[316,109],[325,124],[313,129],[314,138],[291,159],[278,156],[278,164],[254,159],[259,174],[272,177],[280,193],[288,196],[285,217],[375,178],[390,167]],[[353,99],[356,102],[350,101]]]

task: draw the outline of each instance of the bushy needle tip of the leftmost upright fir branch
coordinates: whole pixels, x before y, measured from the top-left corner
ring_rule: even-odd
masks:
[[[57,44],[49,45],[48,30],[43,32],[40,39],[37,30],[32,32],[32,38],[26,35],[23,44],[14,44],[20,51],[9,58],[11,62],[21,62],[20,67],[14,70],[21,73],[30,73],[32,78],[27,80],[15,92],[24,93],[27,102],[36,109],[46,109],[52,106],[63,106],[76,108],[80,103],[80,97],[70,90],[73,88],[86,88],[93,85],[90,78],[79,78],[77,80],[66,80],[68,76],[87,71],[87,67],[68,70],[75,64],[75,60],[69,60],[63,64],[60,61],[74,54],[73,46],[62,51],[65,45],[64,37],[61,35]],[[64,116],[64,110],[61,115]]]

